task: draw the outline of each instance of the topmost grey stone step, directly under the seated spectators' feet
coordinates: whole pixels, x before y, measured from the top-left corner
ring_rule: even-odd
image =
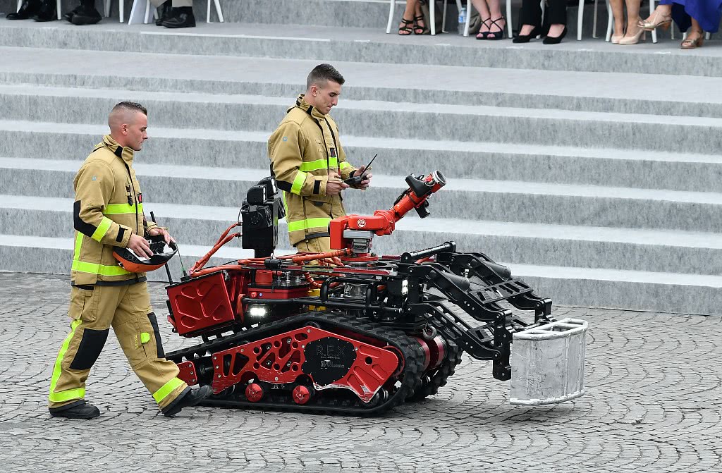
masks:
[[[245,20],[244,20],[245,21]],[[22,25],[18,25],[22,23]],[[385,28],[329,27],[259,23],[200,22],[193,31],[159,29],[155,25],[113,25],[78,28],[67,22],[48,26],[36,22],[2,22],[0,45],[33,48],[132,51],[143,53],[316,58],[387,64],[473,65],[557,71],[635,72],[722,77],[719,48],[680,51],[677,40],[631,48],[600,39],[570,38],[549,47],[541,41],[513,45],[510,41],[477,41],[456,34],[386,35]],[[718,40],[718,39],[716,39]],[[710,42],[711,44],[712,42]]]

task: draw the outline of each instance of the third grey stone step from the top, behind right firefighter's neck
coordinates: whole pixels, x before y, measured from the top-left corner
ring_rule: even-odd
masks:
[[[0,85],[4,118],[31,121],[35,110],[58,123],[103,123],[124,90]],[[151,125],[181,129],[270,131],[293,100],[258,95],[183,95],[133,92],[149,110]],[[615,147],[712,154],[722,147],[722,118],[651,116],[346,100],[334,118],[345,134],[471,142],[479,130],[499,142]],[[682,123],[681,123],[682,122]]]

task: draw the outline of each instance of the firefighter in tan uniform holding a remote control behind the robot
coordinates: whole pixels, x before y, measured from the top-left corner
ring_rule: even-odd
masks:
[[[306,93],[269,138],[271,169],[283,191],[291,244],[298,251],[331,250],[329,222],[346,214],[341,192],[344,179],[365,174],[356,188],[369,186],[371,173],[346,160],[339,129],[329,116],[339,103],[344,78],[329,64],[308,74]]]

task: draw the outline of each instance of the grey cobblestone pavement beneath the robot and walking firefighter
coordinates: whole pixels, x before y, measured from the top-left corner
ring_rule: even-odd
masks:
[[[174,350],[162,285],[151,292]],[[722,472],[719,317],[557,308],[590,324],[583,398],[512,406],[508,383],[464,357],[437,396],[370,419],[166,419],[110,337],[87,394],[103,415],[79,421],[46,408],[68,296],[66,277],[0,273],[0,472]]]

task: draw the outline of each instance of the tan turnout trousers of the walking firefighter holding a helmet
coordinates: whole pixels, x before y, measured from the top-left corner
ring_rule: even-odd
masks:
[[[160,409],[188,387],[177,378],[175,363],[165,359],[145,282],[72,287],[68,315],[70,333],[53,365],[48,396],[51,409],[84,399],[85,381],[111,326],[131,368]]]

